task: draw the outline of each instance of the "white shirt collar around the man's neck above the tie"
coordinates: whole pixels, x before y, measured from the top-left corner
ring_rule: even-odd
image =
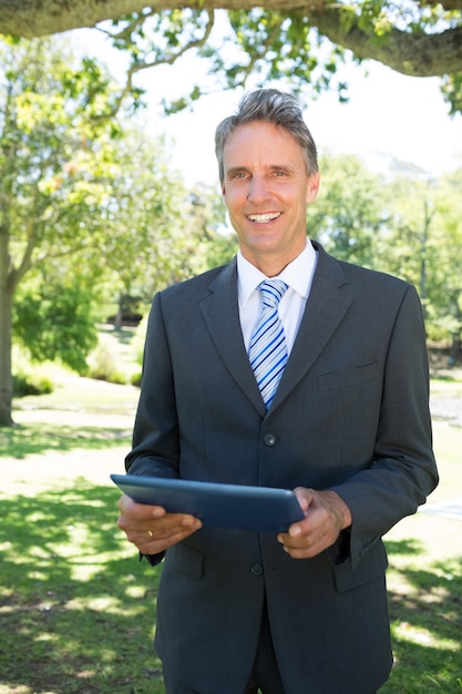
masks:
[[[312,244],[307,239],[304,251],[289,263],[278,275],[291,289],[297,292],[305,299],[308,298],[311,279],[316,267],[317,253]],[[255,265],[249,263],[237,252],[237,292],[240,305],[244,305],[250,294],[264,280],[268,279]]]

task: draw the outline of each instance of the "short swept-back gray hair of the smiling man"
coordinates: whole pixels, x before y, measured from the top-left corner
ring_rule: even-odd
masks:
[[[316,144],[304,121],[298,101],[277,89],[259,89],[245,94],[235,115],[222,121],[215,131],[215,154],[218,160],[220,183],[225,178],[223,155],[229,136],[238,125],[255,121],[265,121],[287,130],[304,150],[308,174],[318,171]]]

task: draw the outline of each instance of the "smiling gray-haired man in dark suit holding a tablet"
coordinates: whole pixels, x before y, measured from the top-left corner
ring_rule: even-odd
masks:
[[[297,488],[305,518],[276,537],[122,497],[119,525],[151,563],[165,557],[168,694],[372,694],[392,661],[381,535],[438,481],[420,302],[307,241],[319,173],[291,96],[245,96],[216,152],[239,252],[155,296],[126,469]],[[270,377],[253,370],[268,278]]]

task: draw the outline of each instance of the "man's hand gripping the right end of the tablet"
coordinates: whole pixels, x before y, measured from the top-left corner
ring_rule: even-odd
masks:
[[[310,559],[335,543],[340,531],[351,525],[351,512],[337,492],[297,487],[305,519],[281,532],[278,541],[294,559]]]

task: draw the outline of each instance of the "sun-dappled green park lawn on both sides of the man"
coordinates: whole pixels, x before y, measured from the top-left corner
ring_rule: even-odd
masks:
[[[127,433],[41,430],[3,432],[21,451],[17,465],[39,471],[51,456],[47,440],[57,440],[54,455],[66,445],[61,465],[79,467],[41,483],[24,476],[0,493],[0,694],[163,694],[152,649],[160,569],[140,563],[116,529],[119,492],[105,481],[121,471]],[[13,465],[8,442],[0,456]],[[462,496],[461,449],[462,428],[437,422],[442,481],[431,501]],[[103,453],[110,461],[95,477]],[[461,530],[419,512],[386,538],[396,666],[384,694],[462,692]]]

